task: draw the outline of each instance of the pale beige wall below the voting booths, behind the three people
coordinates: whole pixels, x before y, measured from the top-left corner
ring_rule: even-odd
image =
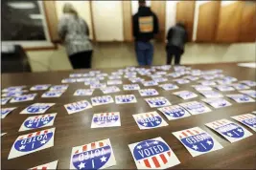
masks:
[[[181,64],[255,61],[255,43],[186,45]],[[34,72],[72,70],[65,49],[27,52]],[[165,45],[154,43],[153,65],[166,62]],[[92,67],[120,68],[137,66],[132,43],[96,43]]]

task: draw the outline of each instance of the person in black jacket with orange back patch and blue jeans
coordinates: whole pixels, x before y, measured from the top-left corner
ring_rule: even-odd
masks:
[[[145,0],[139,0],[139,10],[133,16],[132,22],[138,63],[140,66],[150,66],[153,56],[151,39],[158,33],[158,19],[151,9],[146,7]]]

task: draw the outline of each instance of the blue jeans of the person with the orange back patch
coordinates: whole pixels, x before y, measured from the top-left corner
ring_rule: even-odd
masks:
[[[151,42],[135,42],[135,51],[140,66],[151,66],[153,46]]]

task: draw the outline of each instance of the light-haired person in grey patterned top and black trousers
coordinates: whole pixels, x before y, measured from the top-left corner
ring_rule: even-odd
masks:
[[[61,42],[64,43],[73,69],[91,68],[93,49],[89,40],[89,28],[70,3],[63,6],[58,34]]]

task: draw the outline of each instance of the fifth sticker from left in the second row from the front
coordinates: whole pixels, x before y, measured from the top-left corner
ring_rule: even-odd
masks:
[[[191,115],[204,114],[212,111],[210,108],[198,101],[181,103],[179,105],[189,111]]]

